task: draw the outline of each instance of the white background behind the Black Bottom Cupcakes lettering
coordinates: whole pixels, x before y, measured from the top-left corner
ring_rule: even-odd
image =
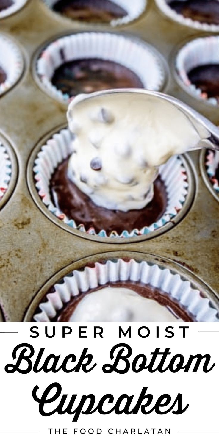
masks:
[[[30,327],[39,327],[39,337],[30,338]],[[70,325],[72,328],[71,335],[62,338],[62,326]],[[159,338],[156,338],[156,326],[158,324],[149,323],[150,335],[146,339],[138,336],[139,323],[132,323],[131,339],[126,337],[118,338],[117,323],[95,323],[101,325],[104,329],[103,339],[97,336],[93,339],[93,323],[83,323],[80,325],[87,326],[87,338],[78,339],[78,324],[54,324],[56,336],[48,339],[45,336],[46,324],[40,323],[0,323],[0,438],[14,437],[171,437],[171,438],[194,438],[194,437],[218,437],[218,381],[219,381],[219,325],[217,323],[175,323],[173,338],[165,337],[165,323],[159,323]],[[130,324],[120,324],[125,330]],[[180,325],[189,326],[186,329],[186,336],[182,338],[182,329]],[[48,325],[48,330],[52,333],[53,324]],[[205,331],[205,332],[202,332]],[[11,332],[11,333],[6,333]],[[18,332],[18,333],[12,333]],[[19,343],[30,343],[35,349],[35,355],[32,362],[37,356],[40,347],[45,347],[44,357],[53,353],[61,354],[61,358],[67,354],[74,353],[79,359],[84,347],[88,347],[88,353],[93,355],[93,363],[96,367],[88,373],[82,370],[79,373],[39,373],[30,372],[29,374],[7,374],[4,367],[8,363],[15,363],[12,358],[12,351]],[[143,370],[134,373],[129,370],[127,374],[105,374],[102,372],[102,365],[113,363],[110,360],[109,352],[117,343],[128,343],[132,350],[131,358],[143,353],[150,360],[150,353],[156,347],[163,351],[170,347],[172,355],[180,353],[184,355],[185,363],[190,354],[208,353],[211,355],[211,362],[215,362],[215,367],[209,373],[204,373],[200,366],[196,373],[189,371],[184,373],[183,370],[177,373],[171,373],[169,370],[164,373],[149,373]],[[172,357],[172,355],[170,357]],[[130,359],[131,360],[131,359]],[[203,360],[204,362],[204,360]],[[193,368],[192,368],[193,369]],[[39,414],[39,404],[32,398],[32,389],[35,385],[39,386],[38,396],[46,387],[53,382],[59,382],[62,385],[62,394],[68,394],[67,400],[70,400],[72,394],[78,394],[78,403],[82,394],[95,394],[96,402],[105,395],[111,393],[116,401],[118,396],[123,393],[128,395],[135,394],[135,403],[141,393],[143,386],[148,386],[147,393],[152,393],[154,402],[164,393],[171,396],[172,401],[178,393],[183,394],[183,407],[188,403],[190,406],[181,415],[167,413],[158,415],[154,411],[148,415],[141,412],[138,415],[100,415],[95,412],[91,415],[81,414],[77,422],[72,422],[72,417],[65,413],[64,415],[53,414],[50,417],[42,417]],[[77,402],[76,399],[76,402]],[[135,404],[134,403],[134,404]],[[56,403],[57,405],[57,403]],[[48,406],[48,405],[47,405]],[[49,405],[50,406],[50,405]],[[53,405],[55,407],[55,405]],[[110,406],[110,405],[109,405]],[[110,406],[111,407],[111,406]],[[148,408],[149,409],[149,408]],[[50,408],[51,410],[51,408]],[[49,434],[49,428],[53,428]],[[55,428],[67,429],[67,434],[55,434]],[[80,429],[86,430],[85,434],[80,433]],[[88,429],[102,429],[101,434],[88,434]],[[113,434],[108,434],[108,429],[113,429]],[[131,434],[131,428],[135,429],[135,434]],[[152,428],[155,431],[152,431]],[[171,434],[165,434],[165,428],[170,429]],[[74,433],[74,429],[77,432]],[[120,429],[120,434],[116,429]],[[127,429],[128,434],[124,433]],[[138,429],[141,434],[138,434]],[[148,429],[148,433],[144,434]],[[161,429],[162,433],[158,433]],[[7,432],[6,432],[7,431]],[[9,432],[13,431],[13,432]],[[17,432],[15,432],[17,431]],[[26,431],[26,432],[25,432]],[[39,431],[39,432],[30,432]],[[181,432],[186,431],[186,432]],[[210,432],[211,431],[211,432]]]

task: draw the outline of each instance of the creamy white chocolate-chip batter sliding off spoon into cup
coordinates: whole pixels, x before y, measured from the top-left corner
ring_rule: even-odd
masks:
[[[200,141],[176,106],[144,93],[79,95],[67,119],[75,134],[68,177],[96,205],[121,211],[145,207],[158,167]]]

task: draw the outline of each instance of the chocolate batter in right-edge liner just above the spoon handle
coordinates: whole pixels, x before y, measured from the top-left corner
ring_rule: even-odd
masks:
[[[189,80],[209,99],[219,102],[219,64],[200,65],[187,73]]]

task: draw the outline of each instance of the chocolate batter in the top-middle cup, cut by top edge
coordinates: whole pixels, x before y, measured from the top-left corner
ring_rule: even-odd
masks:
[[[127,15],[122,7],[109,0],[59,0],[53,10],[72,20],[95,23],[109,23]]]

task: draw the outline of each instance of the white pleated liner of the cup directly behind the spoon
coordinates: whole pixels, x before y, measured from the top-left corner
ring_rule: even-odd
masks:
[[[159,53],[147,43],[109,32],[79,32],[51,42],[40,54],[36,71],[43,88],[56,99],[70,102],[72,97],[52,84],[53,74],[64,63],[88,58],[109,60],[127,67],[148,90],[159,91],[165,80]]]

